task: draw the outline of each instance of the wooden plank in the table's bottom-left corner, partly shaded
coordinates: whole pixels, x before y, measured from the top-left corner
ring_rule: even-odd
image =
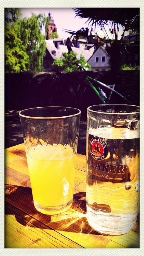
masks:
[[[7,204],[5,248],[82,248],[31,216]]]

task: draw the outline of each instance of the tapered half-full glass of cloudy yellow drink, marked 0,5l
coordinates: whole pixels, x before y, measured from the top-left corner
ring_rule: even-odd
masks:
[[[80,110],[40,107],[20,111],[35,208],[58,214],[73,201]]]

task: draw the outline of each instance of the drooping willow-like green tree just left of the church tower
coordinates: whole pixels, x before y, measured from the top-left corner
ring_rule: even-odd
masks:
[[[32,14],[31,18],[20,19],[14,28],[26,46],[29,56],[29,71],[41,72],[43,70],[43,58],[45,56],[45,37],[41,33],[44,20],[42,16]]]

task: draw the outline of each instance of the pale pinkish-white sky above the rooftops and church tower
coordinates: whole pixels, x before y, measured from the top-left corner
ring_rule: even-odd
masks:
[[[63,29],[69,29],[73,31],[77,31],[81,28],[88,27],[91,30],[90,24],[88,22],[85,24],[87,19],[80,19],[79,17],[75,17],[75,12],[72,8],[20,8],[22,13],[22,18],[31,17],[32,13],[45,13],[48,16],[49,12],[51,13],[52,19],[54,19],[54,23],[57,28],[57,33],[59,38],[67,38],[69,33],[64,32]],[[112,39],[112,35],[109,31],[109,28],[106,29],[108,31],[109,38]],[[100,30],[100,28],[96,27],[96,31],[100,37],[104,37],[104,32]],[[45,34],[45,30],[42,31]],[[119,33],[118,39],[121,38],[122,29]],[[126,35],[126,34],[125,34]]]

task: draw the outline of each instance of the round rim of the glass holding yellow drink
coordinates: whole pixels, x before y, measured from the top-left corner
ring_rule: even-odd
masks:
[[[62,108],[62,109],[75,109],[78,110],[79,112],[73,115],[64,115],[64,116],[53,116],[53,117],[38,117],[38,116],[28,116],[28,115],[23,115],[22,112],[26,111],[26,110],[31,110],[31,109],[43,109],[43,108]],[[21,110],[18,115],[21,117],[25,117],[25,118],[31,118],[31,119],[60,119],[60,118],[68,118],[68,117],[73,117],[73,116],[77,116],[80,115],[81,111],[80,109],[77,108],[71,108],[71,107],[61,107],[61,106],[46,106],[46,107],[36,107],[36,108],[29,108],[29,109],[23,109]]]

